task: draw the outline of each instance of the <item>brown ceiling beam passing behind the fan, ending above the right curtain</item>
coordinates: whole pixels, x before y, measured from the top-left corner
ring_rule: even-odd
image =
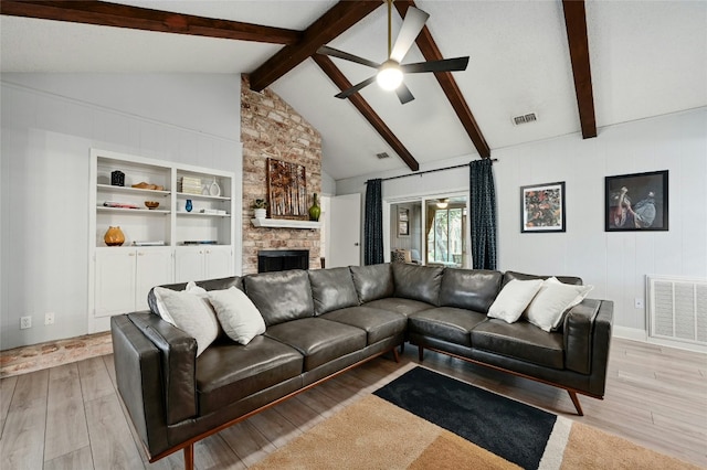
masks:
[[[395,0],[393,4],[398,9],[400,15],[403,18],[405,17],[408,8],[415,7],[415,2],[410,0]],[[440,61],[444,58],[442,56],[442,53],[440,52],[440,49],[434,42],[432,33],[430,33],[428,26],[424,26],[422,29],[422,32],[415,40],[415,43],[418,44],[418,47],[420,49],[422,55],[426,61]],[[454,108],[454,111],[462,122],[462,126],[466,130],[466,133],[468,135],[469,139],[472,139],[472,142],[474,143],[474,147],[476,148],[478,154],[482,158],[490,158],[490,148],[488,147],[488,143],[486,142],[486,139],[484,138],[484,135],[482,133],[482,130],[478,127],[478,124],[476,122],[476,119],[474,118],[474,115],[472,114],[466,99],[464,99],[464,95],[462,95],[462,90],[456,84],[456,81],[454,79],[452,73],[435,72],[434,76],[436,77],[440,86],[442,87],[442,90],[450,100],[452,108]]]

